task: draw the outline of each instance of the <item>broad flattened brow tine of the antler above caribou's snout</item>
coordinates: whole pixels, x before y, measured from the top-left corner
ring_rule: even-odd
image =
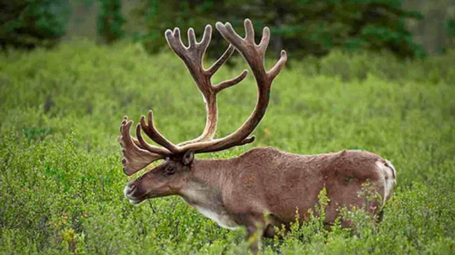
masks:
[[[144,167],[151,164],[158,159],[163,159],[164,154],[156,154],[149,152],[145,149],[138,147],[131,135],[129,135],[129,129],[133,122],[124,118],[122,125],[120,125],[120,136],[119,143],[122,145],[122,164],[123,171],[128,176],[135,174],[137,171],[144,169]]]

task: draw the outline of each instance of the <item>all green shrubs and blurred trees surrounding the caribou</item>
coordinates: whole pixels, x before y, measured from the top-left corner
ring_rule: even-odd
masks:
[[[455,254],[453,0],[0,0],[0,10],[0,254],[246,254],[245,229],[178,197],[129,204],[122,191],[137,176],[123,174],[117,143],[122,117],[149,109],[174,142],[200,133],[203,100],[164,30],[230,21],[243,33],[245,17],[271,27],[268,56],[285,48],[291,60],[256,142],[198,157],[366,149],[397,168],[380,224],[353,210],[342,215],[353,229],[328,231],[312,217],[264,240],[264,254]],[[215,31],[209,57],[226,46]],[[215,83],[245,68],[238,54],[228,64]],[[250,114],[253,84],[220,94],[217,137]]]

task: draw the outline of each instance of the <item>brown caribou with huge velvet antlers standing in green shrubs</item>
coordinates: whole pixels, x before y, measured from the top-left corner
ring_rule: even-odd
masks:
[[[326,206],[326,224],[330,225],[342,206],[365,205],[358,196],[365,182],[372,184],[380,200],[370,203],[368,212],[379,215],[382,206],[395,186],[395,168],[386,159],[363,150],[343,150],[336,153],[301,155],[281,152],[272,147],[257,147],[231,159],[197,159],[194,154],[218,152],[246,145],[255,140],[250,134],[264,117],[269,105],[272,81],[287,62],[287,52],[281,51],[279,60],[266,70],[264,55],[270,39],[270,30],[263,28],[262,39],[255,42],[252,22],[246,19],[245,38],[238,35],[230,23],[216,23],[223,38],[230,43],[215,63],[205,69],[204,53],[208,48],[212,27],[205,26],[200,42],[193,28],[188,30],[188,46],[181,41],[180,30],[166,30],[171,50],[180,57],[193,77],[205,101],[206,122],[202,134],[186,142],[174,144],[161,135],[154,125],[152,111],[142,115],[136,126],[136,137],[130,135],[132,120],[124,117],[119,142],[122,145],[124,174],[131,176],[151,163],[164,161],[146,171],[124,188],[130,203],[138,204],[149,198],[180,196],[205,217],[228,229],[246,227],[247,238],[259,233],[273,237],[276,227],[289,226],[304,220],[306,213],[319,203],[323,188],[330,202]],[[245,79],[247,70],[237,77],[212,84],[211,77],[237,50],[246,60],[257,85],[257,103],[251,115],[240,128],[215,139],[218,122],[217,94]],[[144,140],[144,132],[157,145]],[[264,217],[267,215],[267,217]],[[342,222],[349,225],[348,221]],[[258,242],[252,243],[257,251]]]

